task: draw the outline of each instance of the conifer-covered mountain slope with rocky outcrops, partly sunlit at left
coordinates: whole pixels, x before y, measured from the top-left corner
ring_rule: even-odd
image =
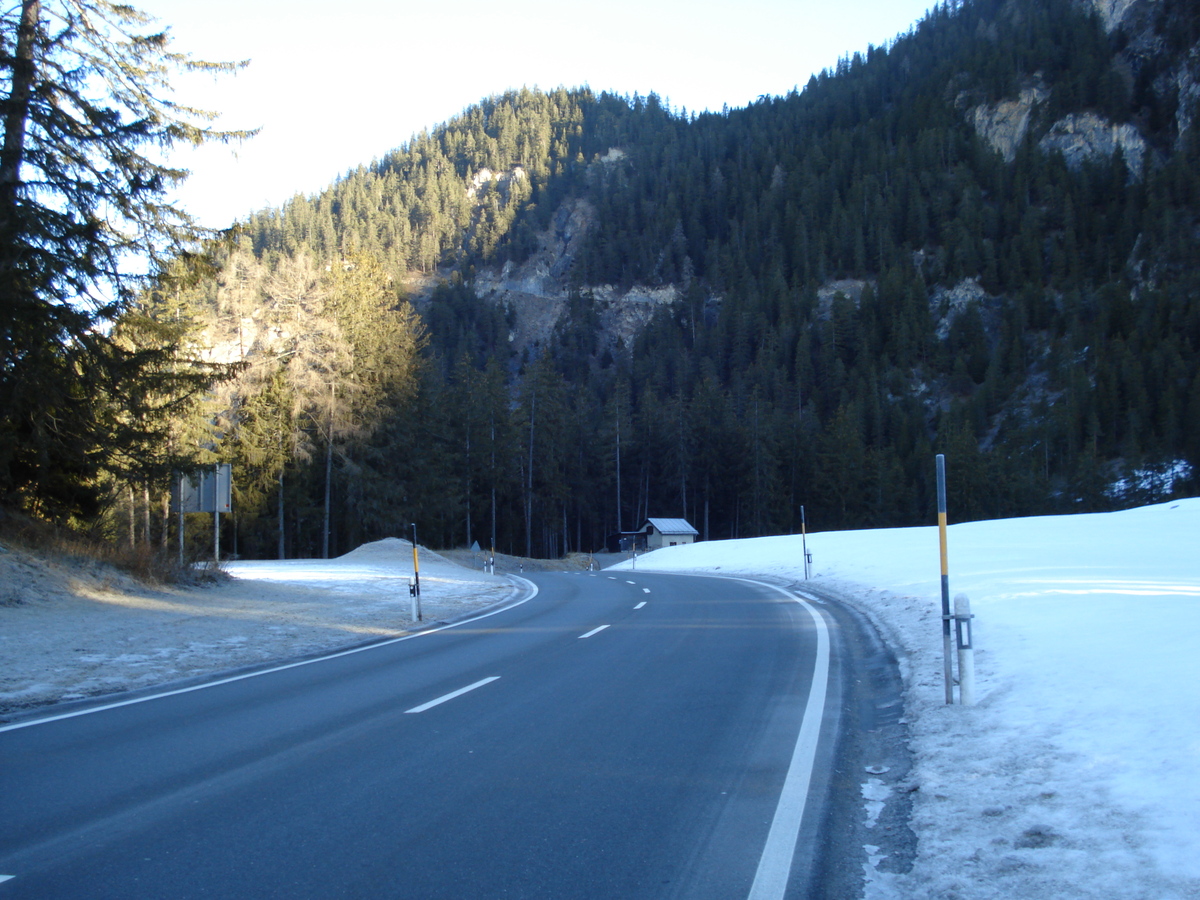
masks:
[[[253,362],[244,550],[911,524],[935,452],[959,521],[1194,490],[1198,41],[1184,0],[949,4],[744,109],[492,97],[256,215],[150,302]]]

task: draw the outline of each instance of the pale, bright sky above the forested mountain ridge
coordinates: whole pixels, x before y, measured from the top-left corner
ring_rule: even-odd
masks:
[[[175,100],[262,128],[236,150],[186,150],[180,192],[223,227],[316,193],[422,128],[510,88],[658,94],[674,109],[743,107],[920,19],[929,0],[143,0],[173,49],[250,59],[179,82]]]

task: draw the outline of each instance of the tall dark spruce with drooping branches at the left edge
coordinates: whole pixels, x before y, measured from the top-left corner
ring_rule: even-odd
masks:
[[[125,407],[161,354],[114,341],[130,260],[188,251],[204,230],[169,200],[178,144],[232,140],[173,100],[179,72],[232,71],[169,49],[108,0],[22,0],[0,12],[0,503],[90,512]]]

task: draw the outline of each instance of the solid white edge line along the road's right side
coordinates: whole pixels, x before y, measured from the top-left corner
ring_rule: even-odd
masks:
[[[787,778],[784,779],[784,790],[779,794],[779,805],[775,806],[775,817],[770,822],[770,832],[767,833],[767,844],[762,848],[754,884],[750,886],[749,900],[781,900],[787,892],[787,880],[792,874],[796,840],[800,834],[804,806],[809,798],[809,784],[812,780],[812,766],[816,761],[826,692],[829,686],[829,629],[826,626],[824,617],[800,596],[788,595],[812,617],[817,632],[817,655],[812,664],[812,686],[809,689],[809,702],[804,707],[804,721],[800,724],[800,733],[796,737],[792,762],[787,767]]]

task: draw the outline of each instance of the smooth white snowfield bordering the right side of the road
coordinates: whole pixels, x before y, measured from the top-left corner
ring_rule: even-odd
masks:
[[[800,544],[637,568],[802,581]],[[918,858],[874,870],[869,900],[1200,898],[1200,499],[956,524],[948,546],[977,616],[973,708],[944,704],[936,527],[808,536],[816,583],[876,622],[905,676]]]

